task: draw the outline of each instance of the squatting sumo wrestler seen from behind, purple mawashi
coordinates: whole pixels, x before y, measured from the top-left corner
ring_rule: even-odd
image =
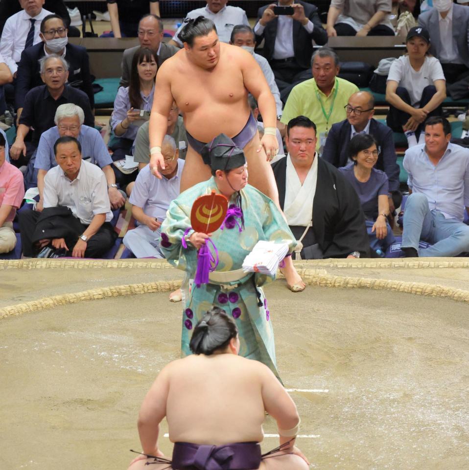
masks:
[[[196,325],[193,354],[160,372],[141,405],[142,455],[129,470],[306,470],[295,447],[300,417],[295,403],[269,368],[238,356],[235,322],[213,307]],[[280,447],[261,455],[265,412],[279,427]],[[174,442],[172,459],[158,447],[160,423]]]

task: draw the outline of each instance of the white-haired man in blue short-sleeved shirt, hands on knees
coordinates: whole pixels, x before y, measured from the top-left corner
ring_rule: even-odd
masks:
[[[39,140],[34,168],[37,172],[37,187],[39,189],[39,202],[36,211],[42,211],[44,177],[47,171],[57,166],[54,144],[59,137],[74,137],[81,144],[81,157],[84,161],[98,165],[104,172],[108,184],[108,195],[111,209],[118,209],[125,204],[125,198],[117,190],[116,176],[111,167],[112,158],[109,155],[106,144],[101,134],[94,127],[83,124],[85,113],[73,103],[61,104],[55,113],[55,126],[46,131]],[[26,182],[26,186],[32,186],[34,181]]]

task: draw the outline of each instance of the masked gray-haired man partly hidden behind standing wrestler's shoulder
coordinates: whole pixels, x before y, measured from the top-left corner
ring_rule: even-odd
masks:
[[[269,84],[270,91],[275,98],[275,105],[277,108],[277,127],[284,129],[285,125],[280,122],[282,103],[280,99],[279,87],[275,82],[274,72],[267,62],[267,59],[254,52],[254,48],[256,47],[256,36],[254,35],[254,31],[250,26],[246,26],[245,24],[237,24],[231,33],[230,44],[247,50],[256,59],[256,62],[259,64],[259,67],[262,70],[267,83]]]

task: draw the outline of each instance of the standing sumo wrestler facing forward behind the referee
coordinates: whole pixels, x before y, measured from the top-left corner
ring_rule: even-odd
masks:
[[[252,185],[279,206],[279,195],[269,160],[278,152],[276,105],[265,77],[254,57],[241,47],[220,43],[211,20],[190,20],[179,34],[184,48],[167,59],[158,71],[150,117],[150,168],[161,177],[164,168],[161,145],[169,110],[176,102],[184,116],[188,152],[181,179],[181,191],[206,181],[210,166],[201,151],[206,142],[224,133],[243,149]],[[259,140],[257,122],[247,100],[251,93],[265,125]],[[305,284],[291,259],[283,268],[288,287],[298,292]]]

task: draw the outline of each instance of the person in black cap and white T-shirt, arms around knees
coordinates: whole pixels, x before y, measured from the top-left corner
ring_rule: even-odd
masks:
[[[430,35],[420,26],[407,34],[407,54],[396,59],[389,69],[386,101],[387,124],[395,132],[403,131],[409,147],[423,142],[423,123],[431,116],[442,116],[446,81],[440,61],[428,54]]]

